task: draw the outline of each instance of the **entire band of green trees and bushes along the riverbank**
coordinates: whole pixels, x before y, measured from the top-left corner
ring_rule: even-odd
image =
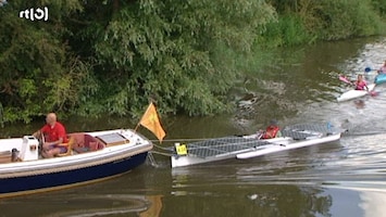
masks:
[[[18,17],[47,7],[48,21]],[[62,117],[233,110],[277,48],[383,36],[384,0],[14,0],[0,7],[0,126]]]

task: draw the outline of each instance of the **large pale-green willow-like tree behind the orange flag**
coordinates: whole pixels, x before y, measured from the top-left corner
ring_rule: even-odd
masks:
[[[96,39],[96,72],[109,90],[98,93],[101,104],[107,113],[122,115],[138,114],[149,98],[163,112],[226,111],[226,92],[239,72],[224,54],[250,52],[257,30],[274,18],[263,1],[142,0],[113,5],[111,10],[107,4],[103,12],[92,10],[102,3],[85,5],[90,12],[111,12],[111,21],[101,20],[97,29],[94,25],[82,35]],[[99,38],[94,38],[96,33]]]

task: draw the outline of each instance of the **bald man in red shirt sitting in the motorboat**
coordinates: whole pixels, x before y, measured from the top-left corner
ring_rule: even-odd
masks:
[[[40,130],[34,133],[35,137],[39,137],[43,141],[41,155],[53,157],[60,153],[65,153],[67,146],[61,145],[69,142],[64,126],[57,120],[54,113],[47,114],[46,123]]]

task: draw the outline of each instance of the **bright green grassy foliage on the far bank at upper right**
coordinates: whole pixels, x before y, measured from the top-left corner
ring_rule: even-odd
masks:
[[[271,0],[279,14],[258,41],[266,47],[297,46],[386,33],[383,0]]]

